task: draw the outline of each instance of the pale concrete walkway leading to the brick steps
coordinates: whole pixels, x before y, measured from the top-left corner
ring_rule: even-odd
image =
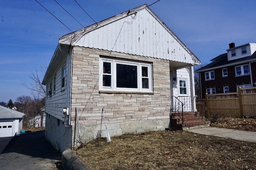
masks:
[[[220,127],[204,127],[199,129],[191,129],[188,131],[203,135],[231,138],[235,140],[256,143],[256,132],[253,131],[241,131],[235,129],[225,129]]]

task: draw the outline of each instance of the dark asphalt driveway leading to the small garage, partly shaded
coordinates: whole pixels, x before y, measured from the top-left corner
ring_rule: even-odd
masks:
[[[63,170],[61,153],[44,139],[44,131],[0,138],[1,170]]]

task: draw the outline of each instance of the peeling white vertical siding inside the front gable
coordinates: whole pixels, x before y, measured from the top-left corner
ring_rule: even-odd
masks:
[[[195,64],[188,51],[146,9],[88,32],[75,46]]]

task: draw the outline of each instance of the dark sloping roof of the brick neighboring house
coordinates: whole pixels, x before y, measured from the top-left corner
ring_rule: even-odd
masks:
[[[256,51],[248,57],[243,57],[240,59],[236,59],[236,60],[230,60],[228,61],[228,53],[224,53],[219,55],[218,57],[215,57],[214,59],[210,60],[212,61],[212,63],[207,64],[206,66],[203,66],[202,68],[199,68],[198,70],[196,70],[196,72],[203,72],[203,71],[207,71],[207,70],[213,70],[216,68],[222,68],[222,67],[226,67],[226,66],[232,66],[232,65],[236,65],[236,64],[243,64],[243,63],[248,63],[251,61],[256,61]]]

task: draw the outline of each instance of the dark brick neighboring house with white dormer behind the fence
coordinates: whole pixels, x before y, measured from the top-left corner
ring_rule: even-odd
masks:
[[[235,47],[229,44],[227,53],[210,60],[212,63],[196,70],[199,72],[201,98],[205,93],[237,92],[238,86],[256,86],[256,43]]]

